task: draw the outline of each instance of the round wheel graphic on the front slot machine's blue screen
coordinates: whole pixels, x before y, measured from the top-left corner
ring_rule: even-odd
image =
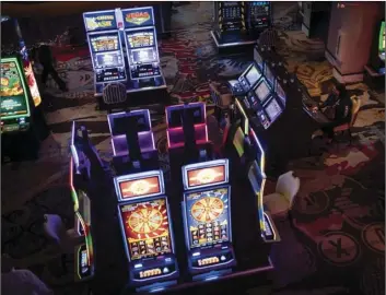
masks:
[[[198,200],[191,206],[191,216],[201,223],[207,223],[218,219],[224,211],[224,202],[214,197],[207,197]]]

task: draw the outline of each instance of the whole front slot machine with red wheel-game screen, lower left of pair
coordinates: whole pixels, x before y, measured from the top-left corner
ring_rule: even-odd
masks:
[[[129,260],[129,283],[155,292],[179,275],[162,170],[114,178],[118,214]]]

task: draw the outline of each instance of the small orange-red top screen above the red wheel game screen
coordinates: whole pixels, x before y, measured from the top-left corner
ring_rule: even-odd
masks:
[[[160,177],[151,176],[119,182],[121,199],[151,196],[161,192]]]

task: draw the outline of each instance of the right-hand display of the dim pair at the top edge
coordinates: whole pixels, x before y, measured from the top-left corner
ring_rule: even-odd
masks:
[[[260,33],[271,25],[271,2],[248,1],[247,2],[248,30]]]

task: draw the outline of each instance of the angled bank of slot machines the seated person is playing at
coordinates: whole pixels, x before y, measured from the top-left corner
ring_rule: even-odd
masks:
[[[254,61],[229,87],[235,97],[230,141],[243,157],[253,130],[271,175],[285,172],[289,161],[307,156],[312,133],[328,122],[321,111],[309,110],[316,103],[269,47],[256,46]]]

